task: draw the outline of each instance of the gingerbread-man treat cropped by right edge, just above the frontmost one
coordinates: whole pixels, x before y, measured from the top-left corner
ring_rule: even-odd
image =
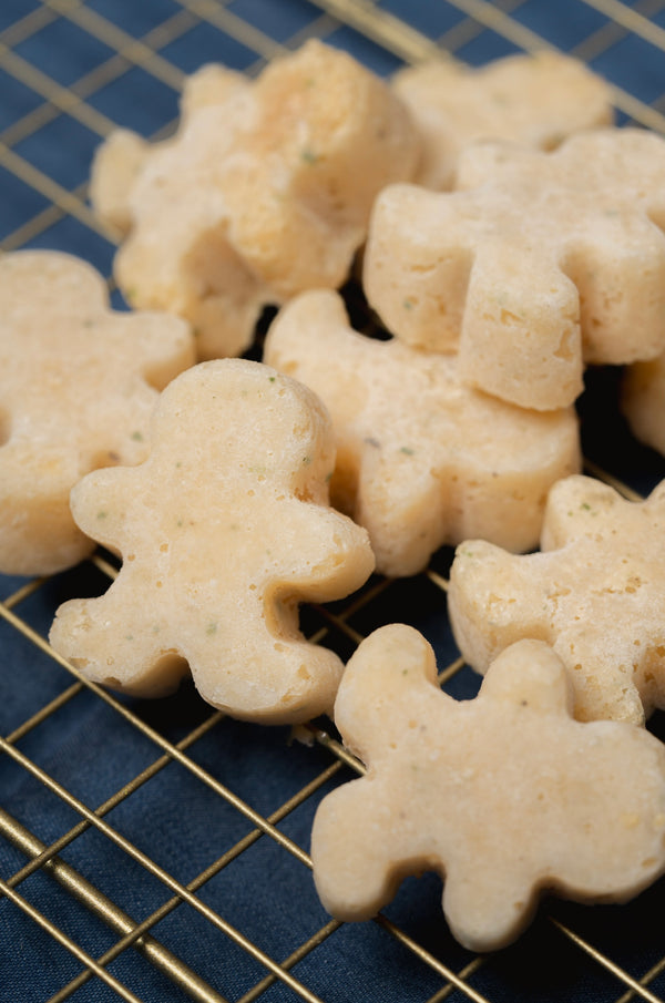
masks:
[[[459,545],[448,612],[464,659],[485,673],[503,648],[538,637],[570,671],[575,717],[642,724],[665,707],[665,482],[631,502],[592,478],[560,481],[541,547]]]

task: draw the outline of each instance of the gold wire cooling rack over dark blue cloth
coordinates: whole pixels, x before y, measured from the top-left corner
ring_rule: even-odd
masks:
[[[197,65],[254,74],[313,35],[383,74],[440,51],[481,63],[551,45],[613,83],[621,122],[665,132],[665,0],[2,0],[2,248],[69,250],[110,276],[113,244],[86,204],[101,139],[116,124],[167,134]],[[665,463],[631,439],[615,392],[614,372],[590,375],[587,471],[638,497]],[[306,607],[301,625],[346,659],[376,626],[412,623],[443,687],[472,696],[446,618],[450,559]],[[190,686],[142,703],[79,677],[47,644],[54,610],[115,573],[100,552],[52,579],[0,579],[2,1003],[665,1000],[663,881],[624,907],[548,899],[516,944],[482,956],[451,939],[432,876],[375,921],[331,921],[310,825],[358,765],[326,720],[259,728]],[[662,715],[649,727],[663,733]]]

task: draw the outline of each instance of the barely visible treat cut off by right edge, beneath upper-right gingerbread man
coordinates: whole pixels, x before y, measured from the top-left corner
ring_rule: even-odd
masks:
[[[626,367],[621,410],[635,438],[665,457],[665,352]]]

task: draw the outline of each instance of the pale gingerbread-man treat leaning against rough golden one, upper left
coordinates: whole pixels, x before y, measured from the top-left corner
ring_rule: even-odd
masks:
[[[92,207],[121,239],[121,291],[133,307],[186,317],[198,358],[239,355],[270,299],[229,244],[218,181],[255,105],[247,78],[204,68],[185,82],[174,136],[153,144],[119,129],[92,164]]]

